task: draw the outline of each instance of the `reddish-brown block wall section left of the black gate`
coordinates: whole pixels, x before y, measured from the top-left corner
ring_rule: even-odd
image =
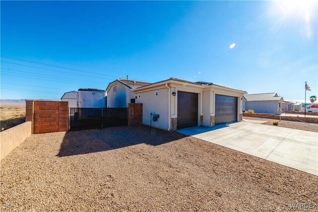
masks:
[[[25,118],[32,121],[33,134],[66,132],[69,130],[69,102],[26,100]]]

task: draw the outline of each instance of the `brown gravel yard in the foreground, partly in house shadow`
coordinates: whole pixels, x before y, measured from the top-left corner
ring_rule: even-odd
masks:
[[[2,212],[294,211],[290,204],[318,203],[317,176],[145,126],[32,135],[1,161],[0,176]]]

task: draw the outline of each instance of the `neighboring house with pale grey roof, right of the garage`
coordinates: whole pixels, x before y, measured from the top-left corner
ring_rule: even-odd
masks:
[[[245,94],[245,110],[252,109],[255,113],[279,114],[279,103],[284,101],[277,93]]]

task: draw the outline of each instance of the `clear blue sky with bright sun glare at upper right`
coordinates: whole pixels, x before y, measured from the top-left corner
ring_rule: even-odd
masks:
[[[126,75],[284,99],[304,99],[308,81],[308,97],[318,95],[317,8],[297,0],[1,1],[1,99],[58,100]]]

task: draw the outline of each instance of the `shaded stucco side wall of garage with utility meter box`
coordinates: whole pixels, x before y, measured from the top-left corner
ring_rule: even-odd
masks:
[[[155,95],[156,91],[158,91],[158,96]],[[140,94],[140,97],[138,94]],[[138,92],[138,94],[136,94],[138,96],[136,103],[143,103],[143,124],[150,126],[150,112],[152,112],[153,114],[159,114],[158,121],[152,121],[152,126],[168,130],[170,120],[168,117],[168,89],[154,89]]]

